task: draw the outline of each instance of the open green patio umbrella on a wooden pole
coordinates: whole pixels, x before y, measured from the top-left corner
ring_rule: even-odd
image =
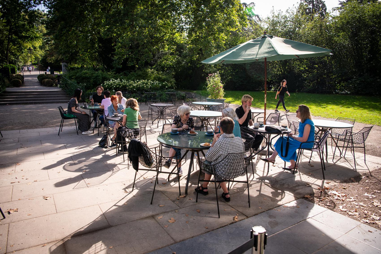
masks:
[[[211,58],[205,59],[203,64],[244,64],[264,62],[264,119],[266,121],[267,96],[267,61],[279,61],[294,58],[311,58],[328,56],[331,50],[296,42],[280,37],[264,34],[256,39],[247,41],[228,49]]]

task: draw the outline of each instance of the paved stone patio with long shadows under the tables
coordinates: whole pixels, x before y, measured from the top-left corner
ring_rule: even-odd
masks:
[[[161,126],[149,128],[148,144],[157,145]],[[317,156],[309,164],[307,152],[296,175],[282,170],[280,159],[267,174],[256,159],[254,174],[249,167],[251,208],[247,188],[237,184],[231,202],[219,199],[219,219],[212,188],[195,202],[198,170],[186,197],[179,197],[176,178],[160,175],[151,205],[152,172],[140,171],[131,191],[135,171],[115,149],[98,147],[101,134],[77,135],[66,125],[57,133],[58,127],[2,131],[0,205],[18,211],[0,221],[0,254],[228,253],[256,225],[267,230],[269,253],[381,252],[379,230],[300,199],[327,181],[379,168],[381,158],[367,155],[365,165],[356,153],[356,172],[351,155],[332,162],[329,148],[325,183]]]

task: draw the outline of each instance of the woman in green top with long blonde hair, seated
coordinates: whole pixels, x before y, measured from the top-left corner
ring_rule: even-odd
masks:
[[[129,129],[133,129],[133,134],[137,136],[140,133],[139,124],[137,123],[137,121],[140,119],[141,115],[139,112],[139,104],[137,103],[137,100],[129,98],[126,102],[126,109],[123,112],[122,125],[126,126]],[[125,152],[127,152],[127,146],[123,147],[123,149],[125,150]]]

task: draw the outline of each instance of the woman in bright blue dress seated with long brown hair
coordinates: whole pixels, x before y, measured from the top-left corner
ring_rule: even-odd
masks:
[[[296,111],[296,117],[300,119],[299,123],[299,135],[294,135],[293,133],[289,134],[289,147],[287,156],[282,156],[280,153],[281,151],[281,144],[282,144],[282,138],[283,138],[283,153],[286,151],[286,143],[287,143],[287,137],[280,137],[275,142],[275,150],[272,153],[272,155],[266,159],[260,158],[262,161],[265,162],[271,162],[272,164],[275,163],[275,158],[277,155],[279,157],[287,162],[291,162],[291,165],[287,168],[288,170],[293,170],[294,167],[298,168],[298,165],[295,165],[295,161],[297,158],[296,150],[300,147],[300,144],[302,142],[311,142],[315,140],[315,125],[311,118],[311,112],[310,108],[306,105],[299,105],[298,110]],[[302,144],[303,148],[312,148],[314,145],[313,142],[311,143],[304,143]]]

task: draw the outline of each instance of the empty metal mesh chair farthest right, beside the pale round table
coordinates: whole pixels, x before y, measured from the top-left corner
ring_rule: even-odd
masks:
[[[350,148],[353,152],[353,159],[355,161],[355,169],[356,169],[355,148],[363,148],[364,149],[364,163],[367,164],[366,159],[365,159],[365,141],[367,140],[367,138],[369,136],[369,132],[371,132],[372,128],[373,128],[373,126],[364,127],[359,132],[356,132],[356,133],[353,133],[352,131],[346,131],[345,135],[337,135],[337,140],[343,142],[343,146],[339,146],[339,147],[343,147],[343,149],[344,149],[345,143],[347,143],[347,146],[345,148],[344,157],[345,157],[345,154],[347,153],[349,143],[351,144]],[[355,144],[358,146],[355,146]],[[336,152],[336,147],[335,147],[335,151],[333,152],[333,154],[335,152]]]

